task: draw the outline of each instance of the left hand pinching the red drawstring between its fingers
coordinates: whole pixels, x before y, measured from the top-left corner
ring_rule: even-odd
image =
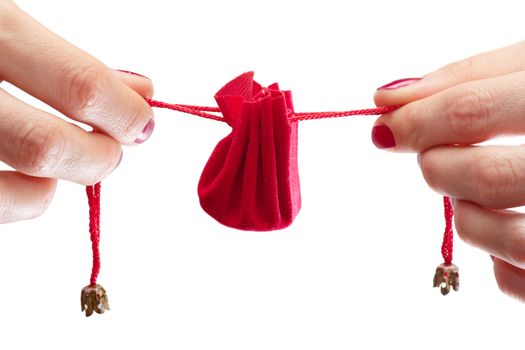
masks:
[[[8,0],[0,0],[0,81],[5,80],[87,132],[0,89],[0,222],[40,215],[56,179],[90,185],[118,166],[121,145],[145,141],[153,114],[147,78],[112,71],[51,33]]]

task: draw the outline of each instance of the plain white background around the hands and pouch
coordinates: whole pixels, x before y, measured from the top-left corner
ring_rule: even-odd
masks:
[[[522,2],[488,3],[18,1],[108,66],[151,77],[160,100],[213,105],[254,70],[292,89],[297,111],[371,107],[391,80],[523,39]],[[111,311],[80,312],[87,200],[61,182],[43,217],[1,227],[1,349],[523,347],[525,308],[499,292],[487,254],[458,241],[460,292],[431,287],[441,197],[415,155],[372,145],[374,117],[303,122],[303,208],[290,228],[253,233],[219,225],[198,202],[229,128],[155,114],[151,139],[103,183]]]

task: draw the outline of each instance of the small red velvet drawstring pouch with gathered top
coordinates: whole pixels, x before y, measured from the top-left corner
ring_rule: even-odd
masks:
[[[269,231],[289,226],[301,207],[297,126],[290,91],[263,88],[253,72],[241,74],[215,95],[232,132],[202,172],[202,208],[221,224]]]

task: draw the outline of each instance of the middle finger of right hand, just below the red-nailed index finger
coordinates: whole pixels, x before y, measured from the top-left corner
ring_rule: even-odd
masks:
[[[419,162],[440,193],[493,209],[525,204],[525,146],[436,147]]]

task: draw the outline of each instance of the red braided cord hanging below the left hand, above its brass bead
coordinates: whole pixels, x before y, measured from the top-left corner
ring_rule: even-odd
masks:
[[[100,272],[100,182],[93,186],[87,186],[86,192],[89,203],[89,233],[91,248],[93,249],[90,286],[94,286],[97,284],[97,277]]]

